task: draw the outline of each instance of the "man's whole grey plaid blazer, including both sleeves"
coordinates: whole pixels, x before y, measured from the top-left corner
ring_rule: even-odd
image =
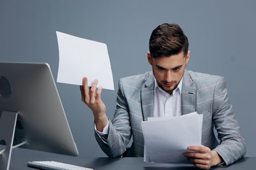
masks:
[[[118,85],[116,110],[112,122],[109,121],[109,134],[99,136],[95,132],[95,138],[109,157],[120,157],[132,136],[127,156],[143,157],[141,122],[154,115],[154,75],[150,71],[121,78]],[[193,111],[204,115],[202,145],[218,152],[227,165],[245,155],[245,141],[228,102],[223,77],[185,70],[181,95],[183,115]],[[214,136],[214,126],[220,143]]]

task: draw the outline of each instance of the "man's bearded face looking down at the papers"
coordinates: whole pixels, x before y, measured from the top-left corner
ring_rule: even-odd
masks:
[[[148,52],[148,62],[152,65],[158,86],[168,94],[172,94],[178,86],[188,63],[189,53],[186,57],[184,57],[184,52],[180,52],[169,57],[163,56],[154,59]]]

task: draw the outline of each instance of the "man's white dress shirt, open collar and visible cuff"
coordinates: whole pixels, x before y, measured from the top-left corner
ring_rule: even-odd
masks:
[[[182,80],[183,78],[180,80],[177,88],[174,89],[170,95],[158,86],[156,78],[154,78],[154,117],[177,117],[181,115]],[[97,131],[95,124],[94,129]],[[97,131],[97,133],[102,136],[104,134],[108,134],[108,132],[109,120],[103,131]]]

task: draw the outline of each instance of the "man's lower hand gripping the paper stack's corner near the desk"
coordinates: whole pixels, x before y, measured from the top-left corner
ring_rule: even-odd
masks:
[[[188,150],[194,152],[186,152],[184,155],[193,162],[196,167],[202,169],[210,169],[212,166],[220,164],[223,160],[217,152],[211,151],[210,148],[201,146],[188,146]]]

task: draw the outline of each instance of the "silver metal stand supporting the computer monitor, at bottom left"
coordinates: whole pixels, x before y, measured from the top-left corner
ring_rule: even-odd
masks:
[[[0,151],[0,170],[9,169],[12,149],[26,143],[26,141],[23,141],[19,145],[13,146],[17,116],[18,112],[3,111],[0,118],[0,142],[4,141],[6,144],[5,149]]]

